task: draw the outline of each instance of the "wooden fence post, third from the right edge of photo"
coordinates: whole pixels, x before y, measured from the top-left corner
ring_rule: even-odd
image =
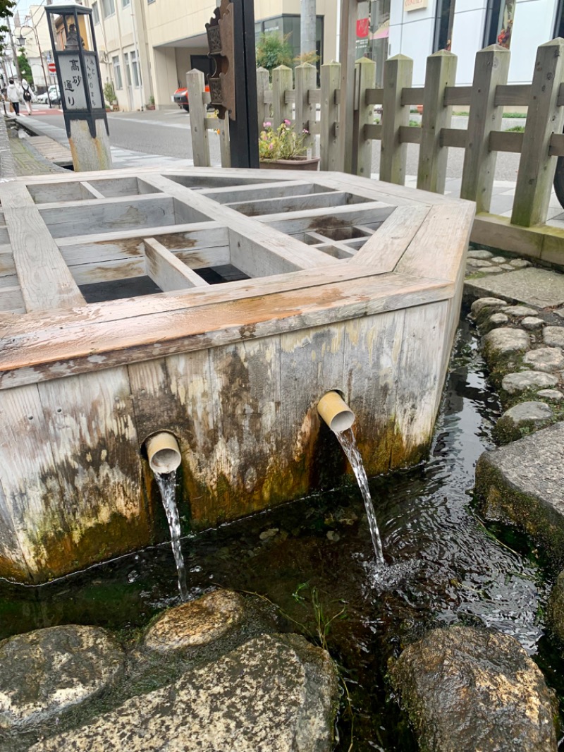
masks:
[[[427,58],[423,90],[423,121],[417,188],[444,193],[447,147],[441,146],[441,129],[450,126],[452,107],[444,106],[444,89],[456,83],[456,55],[439,50]]]

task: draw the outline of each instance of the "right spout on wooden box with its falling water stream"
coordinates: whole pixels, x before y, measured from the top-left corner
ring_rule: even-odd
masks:
[[[368,478],[366,477],[366,471],[362,464],[362,457],[356,446],[356,439],[354,438],[353,429],[351,428],[354,423],[355,415],[347,403],[344,402],[341,395],[334,391],[327,392],[323,395],[317,403],[317,412],[337,437],[339,444],[341,444],[344,453],[347,455],[351,468],[353,468],[353,473],[362,493],[362,499],[364,499],[366,517],[368,518],[368,527],[370,529],[374,553],[378,563],[381,564],[381,566],[385,566],[386,562],[384,561],[380,531],[378,530],[376,513],[374,512],[374,505],[372,504],[370,490],[368,488]]]

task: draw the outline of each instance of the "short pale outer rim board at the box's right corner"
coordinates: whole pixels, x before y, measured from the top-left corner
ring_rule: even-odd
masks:
[[[420,279],[444,279],[454,282],[465,253],[472,229],[475,208],[471,202],[450,206],[434,206],[396,266],[403,274]]]

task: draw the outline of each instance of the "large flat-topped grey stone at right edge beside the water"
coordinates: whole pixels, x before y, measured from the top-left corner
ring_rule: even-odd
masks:
[[[476,492],[486,517],[524,529],[564,562],[564,423],[484,452]]]

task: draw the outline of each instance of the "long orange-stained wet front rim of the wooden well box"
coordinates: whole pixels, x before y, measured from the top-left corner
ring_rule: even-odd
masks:
[[[299,277],[307,274],[302,272]],[[237,284],[221,287],[231,291]],[[119,317],[119,312],[127,310],[128,301],[118,301],[111,305],[99,304],[94,311],[85,308],[88,311],[86,323],[78,321],[75,315],[68,326],[62,326],[60,317],[52,317],[49,326],[43,322],[42,328],[33,330],[32,335],[29,331],[18,335],[17,327],[15,331],[11,327],[0,340],[3,353],[0,389],[189,352],[202,346],[218,347],[241,338],[292,331],[296,326],[322,326],[405,306],[424,305],[449,298],[454,290],[451,283],[440,280],[422,283],[405,274],[380,274],[338,284],[304,287],[299,299],[296,289],[273,295],[265,295],[262,290],[258,296],[241,300],[231,296],[232,299],[223,304],[193,308],[193,315],[187,317],[184,296],[196,293],[197,290],[180,296],[152,296],[147,299],[144,315],[139,315],[138,305],[135,305],[132,317],[127,319]],[[206,291],[206,296],[209,294]],[[150,314],[159,297],[167,300],[168,311]],[[179,304],[180,307],[174,308]],[[104,323],[105,309],[113,312],[114,319]],[[116,315],[119,318],[116,319]]]

